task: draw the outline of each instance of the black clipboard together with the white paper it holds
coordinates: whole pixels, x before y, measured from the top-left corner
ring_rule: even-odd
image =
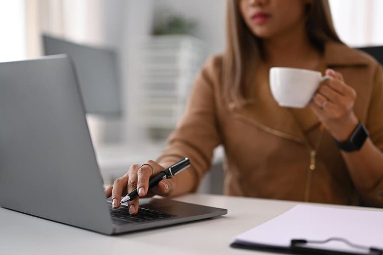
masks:
[[[299,204],[237,237],[232,248],[284,254],[383,255],[383,211]]]

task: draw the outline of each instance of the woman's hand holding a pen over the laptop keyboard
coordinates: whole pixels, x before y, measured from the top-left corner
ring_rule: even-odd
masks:
[[[105,189],[105,195],[107,198],[112,197],[113,208],[120,207],[121,197],[126,196],[135,189],[138,190],[139,197],[141,198],[152,197],[154,195],[169,196],[175,187],[173,179],[162,180],[157,186],[148,190],[150,178],[156,176],[164,169],[164,167],[153,160],[148,160],[142,165],[134,164],[126,174],[115,180],[113,185]],[[137,214],[139,197],[128,201],[129,214]]]

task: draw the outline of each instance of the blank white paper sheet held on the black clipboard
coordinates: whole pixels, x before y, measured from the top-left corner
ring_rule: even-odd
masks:
[[[290,247],[292,239],[324,241],[334,237],[346,239],[356,245],[383,249],[383,212],[297,205],[240,234],[235,242]],[[356,251],[335,241],[320,247]]]

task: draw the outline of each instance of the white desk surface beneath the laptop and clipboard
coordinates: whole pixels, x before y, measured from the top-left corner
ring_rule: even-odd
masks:
[[[228,214],[216,219],[162,229],[104,236],[0,208],[0,254],[270,255],[233,249],[229,245],[237,234],[266,222],[297,204],[202,194],[187,195],[177,200],[227,208]]]

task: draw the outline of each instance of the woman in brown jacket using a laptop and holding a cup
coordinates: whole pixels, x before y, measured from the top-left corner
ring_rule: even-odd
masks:
[[[195,191],[218,144],[226,152],[227,195],[383,206],[380,65],[340,41],[327,0],[229,0],[227,7],[226,51],[201,69],[157,163],[133,165],[106,189],[113,206],[135,188],[140,197]],[[282,108],[270,94],[273,66],[333,79],[306,108]],[[189,170],[148,191],[150,176],[185,156]],[[129,212],[137,211],[135,199]]]

